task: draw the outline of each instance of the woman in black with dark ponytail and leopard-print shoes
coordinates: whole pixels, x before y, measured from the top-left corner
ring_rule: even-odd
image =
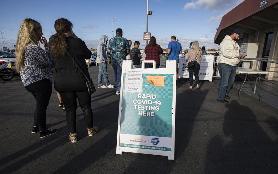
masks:
[[[60,93],[66,108],[69,139],[71,142],[76,142],[76,98],[85,117],[88,135],[93,136],[98,131],[97,126],[93,127],[91,94],[86,88],[86,79],[73,62],[74,60],[87,78],[90,78],[85,59],[90,59],[92,53],[85,42],[72,32],[72,23],[67,19],[57,19],[54,28],[57,33],[49,41],[50,53],[55,61],[54,88]]]

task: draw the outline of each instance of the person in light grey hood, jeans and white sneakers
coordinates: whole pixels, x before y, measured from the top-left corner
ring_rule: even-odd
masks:
[[[107,42],[108,36],[101,35],[100,43],[97,45],[97,64],[99,67],[98,73],[98,88],[115,88],[114,85],[110,84],[108,80],[108,73],[107,73],[107,61],[108,61],[108,54],[107,54]],[[102,84],[102,77],[106,85]]]

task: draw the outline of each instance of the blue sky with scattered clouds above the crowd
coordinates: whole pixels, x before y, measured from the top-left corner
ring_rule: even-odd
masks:
[[[170,37],[175,35],[183,49],[198,40],[201,46],[217,49],[214,44],[216,28],[221,17],[239,5],[243,0],[149,0],[148,31],[156,37],[157,44],[167,48]],[[115,3],[117,2],[117,4]],[[3,5],[3,3],[2,3]],[[44,36],[48,39],[55,33],[54,22],[67,18],[76,35],[85,41],[87,47],[96,48],[101,35],[112,38],[112,22],[107,17],[117,17],[117,28],[123,29],[123,37],[138,40],[144,48],[143,32],[146,32],[146,0],[139,1],[7,1],[1,9],[0,30],[5,46],[13,48],[21,21],[32,18],[41,23]],[[208,35],[207,37],[205,35]],[[0,48],[3,47],[2,36]]]

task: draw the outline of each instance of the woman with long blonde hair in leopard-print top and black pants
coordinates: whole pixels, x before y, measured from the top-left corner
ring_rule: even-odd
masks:
[[[42,26],[33,19],[24,19],[20,25],[16,41],[16,71],[28,92],[36,100],[32,133],[39,131],[40,138],[54,134],[58,129],[46,128],[46,109],[52,93],[52,73],[54,66],[50,57],[47,40],[42,37]],[[45,50],[39,47],[41,41]]]

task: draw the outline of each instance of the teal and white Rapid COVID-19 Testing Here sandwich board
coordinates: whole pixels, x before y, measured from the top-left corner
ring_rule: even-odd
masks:
[[[153,68],[144,68],[153,63]],[[167,156],[174,160],[176,112],[176,61],[155,68],[143,61],[132,68],[123,60],[117,154],[122,152]]]

